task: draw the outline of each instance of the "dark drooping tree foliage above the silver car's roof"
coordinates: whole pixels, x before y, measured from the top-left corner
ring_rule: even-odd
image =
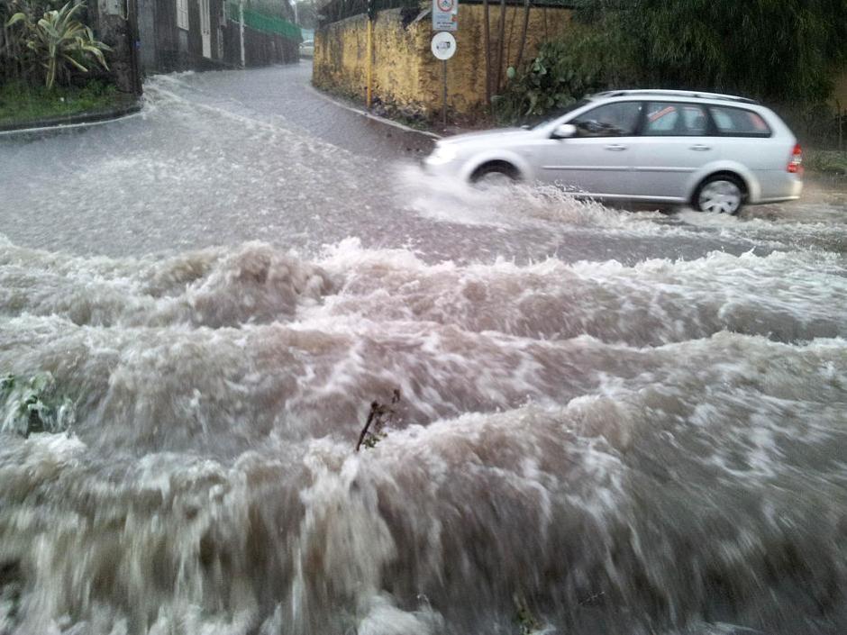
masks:
[[[847,0],[580,0],[644,86],[823,101],[847,61]]]

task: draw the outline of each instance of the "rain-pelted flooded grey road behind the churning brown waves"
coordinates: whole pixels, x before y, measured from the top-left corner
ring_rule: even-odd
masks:
[[[844,196],[740,218],[635,213],[557,192],[479,193],[423,175],[432,139],[339,107],[310,65],[152,77],[139,117],[0,145],[14,244],[142,255],[264,240],[316,253],[345,238],[427,260],[692,259],[714,250],[843,252]],[[788,230],[790,227],[790,231]]]

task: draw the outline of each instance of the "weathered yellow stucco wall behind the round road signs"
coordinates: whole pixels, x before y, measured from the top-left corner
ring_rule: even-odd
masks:
[[[489,14],[492,64],[495,62],[500,12]],[[570,19],[565,9],[533,8],[524,59],[532,59],[541,41],[561,32]],[[505,68],[514,65],[524,24],[522,6],[506,7]],[[314,34],[315,86],[365,97],[367,74],[367,18],[359,15],[333,23]],[[484,14],[481,5],[460,5],[456,55],[448,62],[449,108],[473,113],[485,103]],[[429,16],[404,28],[400,11],[378,14],[374,23],[374,96],[426,115],[442,107],[442,63],[433,57]],[[505,80],[504,80],[505,81]]]

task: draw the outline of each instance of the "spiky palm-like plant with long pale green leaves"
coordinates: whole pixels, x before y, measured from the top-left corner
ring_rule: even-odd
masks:
[[[92,62],[109,68],[103,51],[112,49],[95,40],[94,32],[77,19],[84,8],[84,3],[71,0],[60,9],[45,11],[38,22],[30,14],[21,12],[14,14],[7,23],[7,26],[23,23],[27,32],[26,47],[45,69],[44,81],[48,89],[55,84],[57,75],[68,73],[71,67],[83,73],[88,72]]]

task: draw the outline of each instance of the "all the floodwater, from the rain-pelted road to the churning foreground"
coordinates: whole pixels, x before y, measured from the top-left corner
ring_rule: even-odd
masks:
[[[309,72],[0,141],[0,635],[847,632],[845,188],[470,190]]]

